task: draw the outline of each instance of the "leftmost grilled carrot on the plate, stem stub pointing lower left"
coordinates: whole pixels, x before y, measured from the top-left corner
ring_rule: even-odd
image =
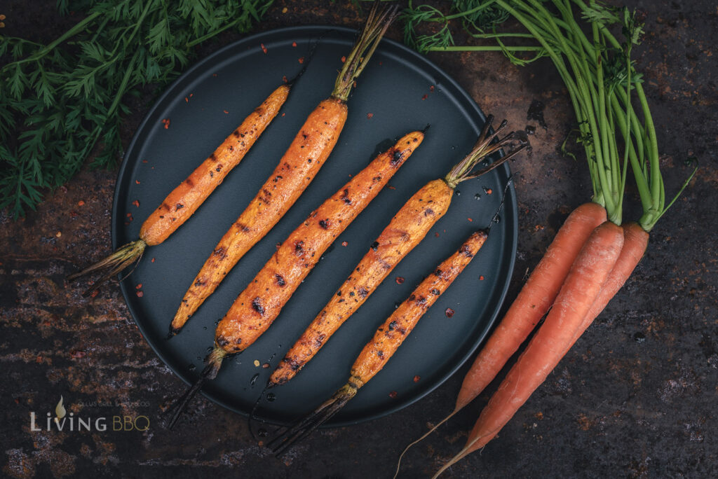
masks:
[[[85,294],[91,293],[106,280],[141,259],[146,247],[159,245],[167,240],[167,237],[197,211],[205,199],[222,183],[225,176],[242,161],[249,148],[279,113],[291,87],[292,82],[289,82],[274,90],[238,128],[230,133],[209,158],[172,190],[162,204],[142,223],[138,240],[123,245],[105,259],[68,276],[67,279],[75,280],[90,272],[108,270],[106,275],[95,282]]]

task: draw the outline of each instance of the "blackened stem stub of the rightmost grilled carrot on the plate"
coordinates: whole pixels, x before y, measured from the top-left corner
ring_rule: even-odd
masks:
[[[338,389],[330,399],[323,402],[320,407],[314,409],[313,412],[297,420],[292,425],[279,428],[274,439],[267,443],[267,447],[274,452],[274,455],[282,455],[295,442],[304,439],[304,437],[314,432],[317,427],[327,422],[334,414],[337,414],[357,394],[358,389],[359,386],[348,382]]]

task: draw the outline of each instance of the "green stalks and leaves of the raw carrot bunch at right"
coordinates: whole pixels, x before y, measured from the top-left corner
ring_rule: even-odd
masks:
[[[593,201],[605,207],[610,221],[621,224],[630,164],[643,207],[638,222],[651,231],[675,197],[666,203],[656,129],[642,77],[630,59],[633,45],[643,34],[638,12],[594,0],[588,4],[582,0],[460,1],[452,8],[444,14],[433,6],[414,6],[410,1],[404,11],[405,41],[421,52],[498,50],[516,65],[549,57],[576,114],[577,141],[586,152]],[[575,11],[586,22],[579,23]],[[500,32],[498,28],[509,17],[526,32]],[[451,25],[458,21],[470,38],[495,44],[455,45]],[[610,31],[616,25],[621,27],[621,39]],[[434,33],[418,33],[426,28]],[[507,44],[516,40],[523,44]]]

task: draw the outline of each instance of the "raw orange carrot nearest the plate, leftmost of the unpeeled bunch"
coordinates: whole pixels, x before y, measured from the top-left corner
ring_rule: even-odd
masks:
[[[606,210],[595,203],[574,209],[544,257],[531,272],[516,300],[491,334],[467,372],[454,412],[477,397],[526,341],[559,294],[569,269],[593,230],[606,221]]]

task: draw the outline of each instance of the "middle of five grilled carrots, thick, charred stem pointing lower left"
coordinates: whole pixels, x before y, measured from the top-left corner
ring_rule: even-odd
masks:
[[[376,197],[423,140],[424,133],[421,131],[401,138],[354,175],[289,234],[218,324],[214,351],[208,356],[207,366],[197,384],[201,386],[205,379],[212,379],[225,356],[240,353],[269,328],[335,238]],[[179,409],[169,427],[174,425],[198,390],[196,385],[193,386],[180,400]]]

